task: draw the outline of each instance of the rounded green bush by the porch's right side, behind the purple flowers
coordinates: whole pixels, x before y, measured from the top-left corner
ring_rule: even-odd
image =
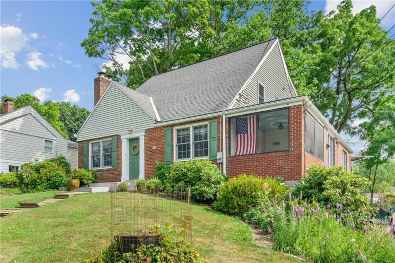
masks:
[[[342,167],[325,168],[312,165],[300,182],[295,184],[293,195],[307,201],[316,200],[332,207],[338,203],[343,212],[370,212],[369,199],[363,193],[369,181]]]

